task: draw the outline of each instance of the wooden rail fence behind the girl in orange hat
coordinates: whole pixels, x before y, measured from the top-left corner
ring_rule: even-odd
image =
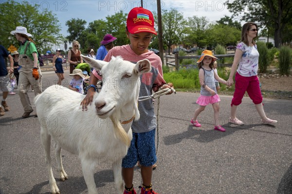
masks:
[[[219,54],[214,55],[218,59],[225,58],[225,57],[234,57],[233,54]],[[166,65],[174,66],[176,70],[179,70],[180,68],[180,59],[199,59],[201,55],[188,55],[188,56],[179,56],[179,53],[175,53],[175,55],[166,55]],[[170,61],[171,60],[171,61]],[[219,66],[232,66],[232,64],[219,64]]]

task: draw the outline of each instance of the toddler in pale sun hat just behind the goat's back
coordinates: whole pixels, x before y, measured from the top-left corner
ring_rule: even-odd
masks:
[[[70,76],[73,76],[73,79],[69,83],[69,89],[79,92],[80,94],[84,93],[83,90],[83,81],[85,78],[85,75],[83,75],[83,72],[81,69],[74,69],[72,74],[69,74]]]

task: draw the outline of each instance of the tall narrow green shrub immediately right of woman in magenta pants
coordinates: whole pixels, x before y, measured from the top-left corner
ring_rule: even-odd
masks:
[[[266,43],[258,41],[256,43],[257,51],[259,52],[258,67],[260,73],[265,73],[269,65],[268,48]]]

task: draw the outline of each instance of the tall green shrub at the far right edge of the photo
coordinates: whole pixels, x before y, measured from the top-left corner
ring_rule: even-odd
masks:
[[[289,47],[281,47],[278,60],[280,74],[289,75],[292,62],[292,50]]]

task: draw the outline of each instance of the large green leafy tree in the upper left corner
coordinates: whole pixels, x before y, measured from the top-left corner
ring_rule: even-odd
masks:
[[[36,42],[38,51],[45,53],[54,44],[64,41],[59,33],[58,19],[51,11],[40,11],[39,5],[30,5],[27,1],[6,1],[0,6],[0,41],[8,48],[14,45],[18,48],[18,41],[10,34],[17,26],[27,28]]]

